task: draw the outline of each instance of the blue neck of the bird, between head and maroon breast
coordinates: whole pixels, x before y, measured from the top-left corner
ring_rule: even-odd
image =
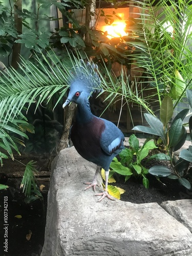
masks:
[[[93,119],[94,115],[91,113],[90,103],[88,99],[78,103],[76,121],[78,123],[88,123]]]

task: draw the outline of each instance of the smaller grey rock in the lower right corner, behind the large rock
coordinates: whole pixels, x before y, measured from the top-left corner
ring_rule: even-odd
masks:
[[[192,200],[166,201],[161,206],[192,232]]]

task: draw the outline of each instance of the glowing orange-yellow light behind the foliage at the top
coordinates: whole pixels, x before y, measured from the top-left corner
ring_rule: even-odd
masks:
[[[124,22],[114,22],[112,25],[106,25],[101,28],[103,32],[108,32],[108,38],[111,39],[112,37],[122,37],[127,35],[124,29],[126,24]]]

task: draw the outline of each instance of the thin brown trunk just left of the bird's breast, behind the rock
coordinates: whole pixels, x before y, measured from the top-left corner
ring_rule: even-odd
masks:
[[[57,152],[63,150],[69,144],[69,140],[68,140],[69,132],[70,132],[70,127],[71,127],[71,123],[72,123],[72,120],[73,120],[73,116],[74,116],[74,113],[75,113],[75,109],[76,109],[76,103],[71,102],[71,104],[68,106],[66,121],[65,121],[65,124],[64,124],[64,130],[63,130],[61,139],[59,141],[59,144],[57,146]]]

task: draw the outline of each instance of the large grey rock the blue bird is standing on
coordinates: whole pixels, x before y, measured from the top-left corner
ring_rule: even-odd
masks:
[[[98,203],[92,189],[84,191],[95,170],[74,147],[54,159],[41,256],[192,255],[190,231],[157,203]]]

